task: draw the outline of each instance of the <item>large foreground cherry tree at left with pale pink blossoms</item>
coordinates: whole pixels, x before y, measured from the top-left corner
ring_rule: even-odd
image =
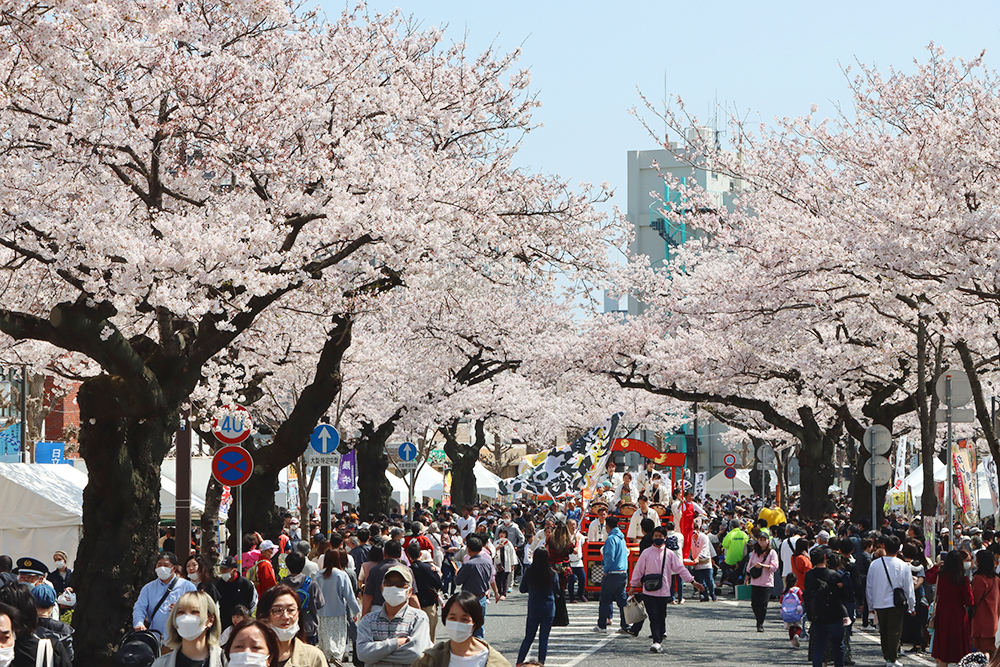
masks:
[[[336,359],[358,294],[440,262],[594,270],[617,233],[595,195],[513,167],[536,104],[516,54],[466,58],[397,14],[15,1],[0,40],[0,331],[100,368],[79,392],[87,664],[108,664],[149,578],[181,409],[262,315],[322,282]],[[338,384],[317,367],[290,447]]]

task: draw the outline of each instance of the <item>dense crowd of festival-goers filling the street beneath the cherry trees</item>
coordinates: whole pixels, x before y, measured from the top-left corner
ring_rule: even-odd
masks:
[[[156,667],[520,667],[545,663],[569,604],[598,602],[595,633],[638,637],[648,622],[659,653],[671,605],[725,594],[749,600],[757,632],[783,624],[817,667],[853,665],[859,625],[877,630],[887,667],[901,651],[1000,667],[1000,536],[960,523],[951,539],[948,526],[924,535],[891,513],[873,530],[846,501],[807,521],[790,500],[786,513],[758,496],[695,499],[651,464],[609,464],[587,502],[347,511],[329,534],[288,514],[273,539],[248,533],[217,563],[166,532],[122,650],[152,645]],[[39,651],[51,660],[38,664],[71,664],[67,561],[0,556],[0,667],[30,667]],[[527,596],[516,658],[486,641],[489,604],[514,589]]]

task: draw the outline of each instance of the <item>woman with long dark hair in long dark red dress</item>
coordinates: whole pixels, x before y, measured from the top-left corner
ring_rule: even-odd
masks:
[[[934,605],[934,642],[931,655],[940,667],[958,662],[972,649],[969,641],[971,629],[965,608],[973,604],[972,587],[966,578],[966,560],[969,554],[958,549],[949,551],[944,564],[936,573],[937,603]],[[927,577],[930,581],[931,576]]]

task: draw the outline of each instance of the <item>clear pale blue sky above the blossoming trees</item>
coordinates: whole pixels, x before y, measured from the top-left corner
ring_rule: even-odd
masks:
[[[331,19],[343,2],[322,0]],[[521,47],[543,106],[520,163],[574,186],[608,181],[625,208],[626,152],[656,145],[628,109],[638,87],[661,102],[680,95],[700,117],[716,99],[770,121],[849,95],[841,66],[855,58],[908,70],[930,41],[948,56],[987,49],[1000,67],[1000,2],[564,2],[552,0],[373,0],[399,7],[424,26],[447,26],[446,40],[478,53]]]

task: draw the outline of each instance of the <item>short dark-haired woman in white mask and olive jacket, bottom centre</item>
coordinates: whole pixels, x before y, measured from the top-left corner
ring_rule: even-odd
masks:
[[[448,640],[424,651],[413,667],[510,667],[499,651],[473,632],[483,627],[483,608],[472,593],[456,593],[441,610]],[[440,632],[440,631],[439,631]]]

